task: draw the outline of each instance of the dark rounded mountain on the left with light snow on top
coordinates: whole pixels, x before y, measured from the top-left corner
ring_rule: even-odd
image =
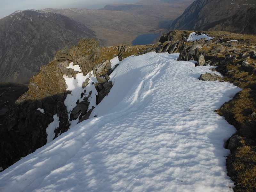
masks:
[[[0,82],[26,84],[56,52],[95,38],[94,31],[64,15],[18,11],[0,20]]]

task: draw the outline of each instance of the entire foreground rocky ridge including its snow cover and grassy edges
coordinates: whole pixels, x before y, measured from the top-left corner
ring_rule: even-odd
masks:
[[[172,42],[145,46],[121,44],[99,48],[98,41],[84,39],[79,41],[78,46],[58,51],[54,60],[32,77],[28,92],[17,100],[16,108],[6,114],[4,125],[0,127],[0,171],[46,142],[52,142],[68,128],[70,128],[69,132],[64,133],[60,139],[54,140],[53,145],[46,145],[35,154],[23,158],[16,164],[18,166],[13,165],[1,173],[0,187],[3,187],[4,191],[5,189],[22,190],[21,188],[26,189],[28,186],[28,190],[38,187],[38,191],[45,191],[46,188],[60,191],[59,187],[63,185],[55,184],[63,183],[63,178],[68,178],[70,180],[64,186],[66,190],[75,185],[74,188],[77,190],[82,186],[88,190],[99,191],[99,186],[101,189],[111,185],[107,190],[113,191],[113,188],[116,188],[116,191],[120,191],[119,189],[125,187],[136,191],[138,186],[141,189],[148,188],[144,182],[147,180],[149,183],[154,183],[154,187],[162,182],[161,186],[169,186],[173,189],[171,191],[176,190],[175,186],[178,186],[177,191],[180,191],[180,187],[185,190],[188,184],[197,191],[195,183],[199,186],[205,185],[209,191],[232,191],[233,184],[226,175],[224,158],[228,153],[223,148],[224,141],[227,141],[226,147],[232,152],[228,157],[231,161],[227,163],[228,176],[236,182],[237,190],[242,189],[238,191],[245,191],[245,188],[255,189],[256,37],[219,31],[204,32],[208,35],[191,32],[194,31],[175,31],[172,33],[173,37],[170,33],[162,38],[167,37],[167,40]],[[191,41],[187,41],[185,37]],[[198,37],[207,37],[209,40],[197,39]],[[198,41],[192,41],[193,39]],[[157,53],[180,51],[180,55],[179,57],[178,54],[167,53],[142,55],[154,51]],[[132,55],[138,57],[130,57]],[[195,67],[194,61],[180,61],[197,60],[197,57],[198,61],[199,58],[205,58],[206,64],[211,66]],[[124,62],[118,63],[123,60]],[[116,64],[121,64],[122,70],[116,71],[119,68]],[[215,69],[214,66],[218,67]],[[208,70],[209,68],[211,69]],[[224,77],[216,75],[218,74],[216,70]],[[210,76],[218,76],[218,79],[222,79],[221,82],[199,81],[199,75],[204,72],[208,72]],[[200,78],[200,80],[206,79]],[[242,91],[236,95],[235,92],[230,94],[228,87],[232,90],[236,89],[236,92],[239,91],[231,83],[243,88]],[[112,87],[113,90],[110,90]],[[228,139],[235,130],[223,118],[213,113],[213,109],[217,109],[224,100],[230,100],[234,95],[233,100],[225,103],[218,110],[218,113],[224,115],[226,120],[234,124],[238,130],[236,135]],[[208,119],[210,116],[213,117],[212,120]],[[186,119],[187,117],[189,118]],[[172,118],[173,120],[170,121]],[[182,121],[179,121],[180,119]],[[77,122],[82,123],[76,125]],[[169,127],[170,125],[173,126]],[[224,130],[224,125],[229,132],[226,136],[220,134]],[[171,135],[166,140],[168,145],[165,146],[166,143],[162,141],[166,134]],[[179,137],[180,135],[182,137]],[[195,140],[187,142],[194,135]],[[134,142],[137,139],[142,142]],[[203,143],[196,146],[199,140]],[[179,143],[177,148],[173,143],[169,146],[172,141]],[[146,143],[149,145],[145,145]],[[193,144],[194,148],[188,145],[186,150],[187,145],[184,146],[184,143]],[[152,146],[157,147],[153,150]],[[204,148],[205,146],[208,147]],[[131,151],[135,148],[135,151]],[[172,152],[166,153],[170,148],[173,149]],[[203,150],[198,151],[198,149]],[[198,153],[191,154],[195,150]],[[155,153],[158,151],[163,153]],[[199,152],[200,156],[198,156]],[[134,158],[134,155],[143,153],[145,156]],[[209,153],[212,158],[209,158]],[[124,155],[127,158],[124,158]],[[165,155],[167,155],[166,161],[170,160],[175,164],[163,162]],[[33,156],[32,160],[31,156]],[[204,158],[205,161],[202,161]],[[128,163],[125,162],[126,160]],[[117,164],[124,168],[120,169]],[[188,164],[191,166],[188,167]],[[180,166],[179,170],[176,170],[177,165],[182,165],[185,172]],[[135,172],[134,167],[136,167]],[[171,167],[178,172],[170,174],[168,170]],[[193,170],[187,172],[191,167]],[[218,167],[217,174],[216,167]],[[123,182],[130,179],[129,176],[126,177],[129,174],[123,172],[127,168],[131,177],[136,178],[128,185]],[[204,177],[205,172],[195,176],[195,170],[205,170],[208,176],[211,172],[211,179],[208,180],[208,176]],[[84,174],[87,171],[89,171],[88,175]],[[160,176],[159,182],[155,183],[155,177],[150,180],[141,175],[145,171],[149,171],[150,175],[156,174],[157,178]],[[82,181],[81,175],[77,173],[82,174]],[[122,178],[113,177],[118,174]],[[79,183],[81,181],[82,185],[73,182],[74,175],[78,176],[75,181]],[[168,182],[163,183],[166,181],[166,175]],[[246,178],[245,176],[248,175],[249,178]],[[17,184],[19,180],[22,186]],[[117,180],[122,185],[116,185]],[[216,185],[215,181],[222,183],[221,186]],[[209,183],[212,184],[209,186]],[[170,191],[169,187],[165,188],[166,191]]]

